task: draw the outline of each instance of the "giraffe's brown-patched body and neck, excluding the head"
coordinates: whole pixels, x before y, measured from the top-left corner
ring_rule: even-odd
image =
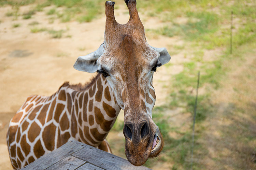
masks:
[[[52,96],[29,96],[7,133],[13,168],[20,169],[71,139],[111,152],[105,137],[119,111],[100,74],[86,87],[64,83]]]

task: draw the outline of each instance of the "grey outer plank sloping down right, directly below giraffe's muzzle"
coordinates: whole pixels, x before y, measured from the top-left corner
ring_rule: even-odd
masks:
[[[83,159],[90,164],[96,165],[106,170],[149,170],[149,168],[144,166],[133,166],[126,159],[115,156],[108,152],[104,152],[91,146],[88,146],[73,153],[72,156],[77,157],[79,159]]]

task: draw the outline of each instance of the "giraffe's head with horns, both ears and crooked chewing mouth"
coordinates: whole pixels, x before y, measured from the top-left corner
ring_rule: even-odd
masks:
[[[130,19],[119,24],[114,17],[114,2],[106,1],[104,42],[98,50],[80,56],[74,68],[102,73],[116,103],[124,110],[125,154],[130,163],[140,166],[158,155],[163,139],[152,120],[155,90],[152,85],[157,67],[170,61],[166,48],[148,45],[136,0],[125,0]]]

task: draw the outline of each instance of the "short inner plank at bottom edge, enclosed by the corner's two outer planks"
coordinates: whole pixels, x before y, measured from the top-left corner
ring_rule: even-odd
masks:
[[[45,170],[75,170],[85,163],[86,161],[82,159],[78,159],[74,156],[68,156]]]

